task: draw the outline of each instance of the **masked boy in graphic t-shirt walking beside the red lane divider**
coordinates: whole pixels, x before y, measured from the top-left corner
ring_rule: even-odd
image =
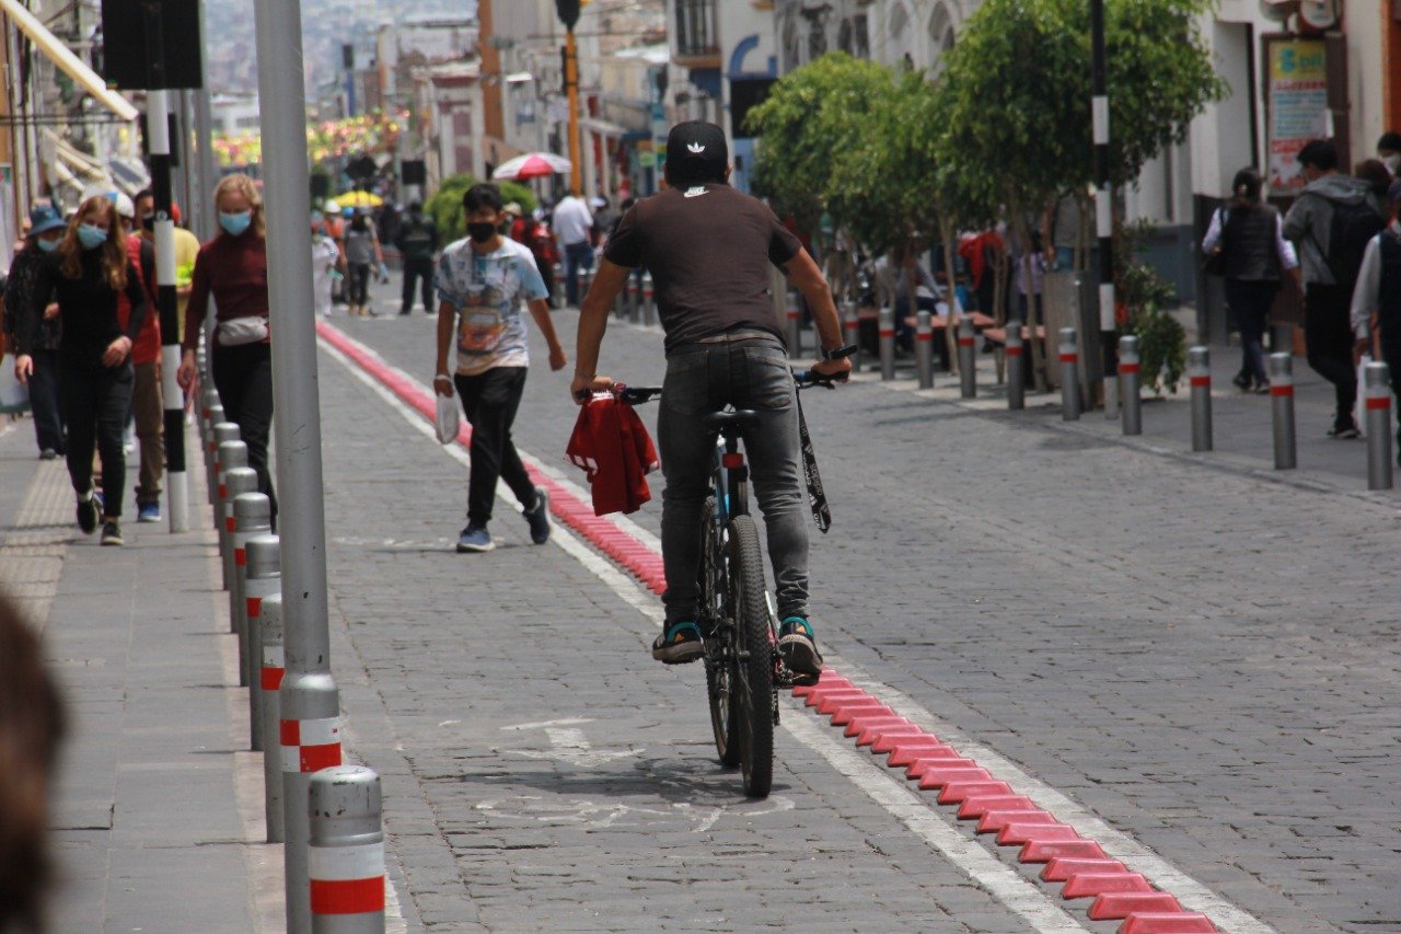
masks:
[[[565,369],[565,351],[549,320],[545,282],[535,258],[523,244],[500,236],[504,220],[502,192],[496,185],[474,185],[462,196],[465,240],[448,244],[439,258],[437,376],[433,391],[457,394],[472,425],[472,468],[467,484],[467,527],[458,551],[490,551],[496,547],[486,530],[492,520],[496,481],[504,480],[530,523],[531,541],[549,540],[549,496],[535,487],[511,442],[511,425],[525,390],[525,317],[549,345],[549,369]],[[457,373],[448,374],[448,345],[457,334]]]

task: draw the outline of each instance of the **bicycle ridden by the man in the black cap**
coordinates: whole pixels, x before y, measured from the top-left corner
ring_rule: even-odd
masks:
[[[799,391],[835,388],[841,377],[794,372]],[[618,384],[630,405],[661,395],[660,387]],[[744,792],[765,798],[773,784],[773,729],[779,689],[813,684],[794,675],[778,652],[778,604],[765,585],[759,532],[750,515],[750,468],[740,440],[757,414],[727,408],[705,418],[716,432],[710,494],[700,519],[699,611],[705,644],[706,694],[716,752],[727,769],[740,766]]]

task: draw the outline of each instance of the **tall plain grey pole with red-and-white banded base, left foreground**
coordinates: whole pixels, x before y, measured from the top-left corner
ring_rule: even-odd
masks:
[[[331,677],[326,609],[326,530],[321,481],[321,398],[317,386],[315,306],[307,262],[311,213],[307,172],[307,98],[303,88],[301,3],[254,0],[262,107],[272,309],[273,419],[282,491],[283,627],[287,677],[279,693],[287,930],[311,927],[307,893],[307,781],[340,764],[340,698]],[[576,161],[577,167],[577,161]],[[290,762],[289,762],[290,750]],[[297,771],[289,771],[287,766]]]

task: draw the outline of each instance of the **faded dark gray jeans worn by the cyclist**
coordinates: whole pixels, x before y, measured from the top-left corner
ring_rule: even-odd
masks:
[[[727,404],[759,414],[744,433],[750,478],[768,529],[779,618],[807,617],[807,503],[797,404],[787,353],[776,338],[736,335],[672,348],[667,358],[657,435],[661,471],[661,554],[667,624],[696,618],[700,510],[709,492],[713,431],[703,418]]]

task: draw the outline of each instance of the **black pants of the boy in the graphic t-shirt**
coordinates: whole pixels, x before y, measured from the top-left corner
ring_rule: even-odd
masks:
[[[472,471],[467,481],[467,522],[486,527],[504,480],[527,509],[535,505],[535,484],[511,442],[511,425],[525,391],[524,366],[497,366],[478,376],[455,376],[462,411],[472,425]]]

